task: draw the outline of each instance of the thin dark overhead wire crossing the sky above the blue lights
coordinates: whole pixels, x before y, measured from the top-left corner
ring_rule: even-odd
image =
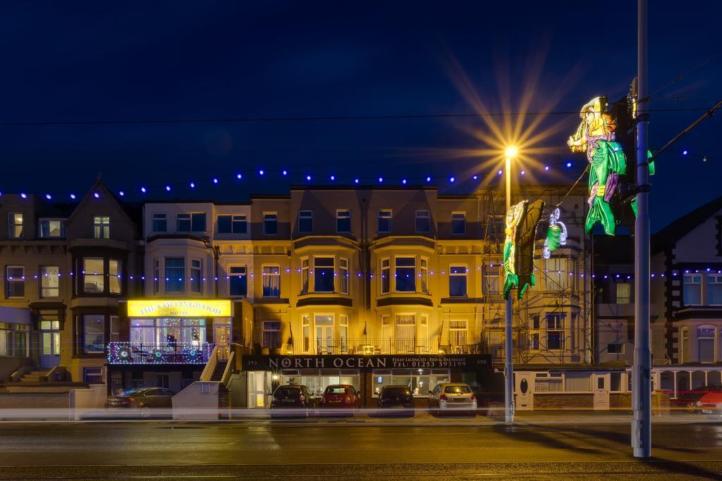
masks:
[[[706,107],[674,109],[651,109],[644,112],[700,112]],[[644,113],[640,111],[640,113]],[[121,119],[121,120],[18,120],[0,122],[0,127],[25,127],[40,125],[134,125],[134,124],[191,124],[191,123],[265,123],[265,122],[316,122],[335,120],[413,120],[433,118],[484,118],[523,117],[536,115],[578,115],[578,110],[558,112],[482,112],[444,114],[383,114],[383,115],[325,115],[300,117],[237,117],[237,118],[191,118],[191,119]]]

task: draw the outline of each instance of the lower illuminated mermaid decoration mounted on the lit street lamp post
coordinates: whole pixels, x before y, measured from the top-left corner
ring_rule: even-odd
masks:
[[[534,241],[536,225],[541,219],[544,201],[522,200],[506,213],[504,242],[504,299],[513,288],[522,299],[526,289],[534,286]]]

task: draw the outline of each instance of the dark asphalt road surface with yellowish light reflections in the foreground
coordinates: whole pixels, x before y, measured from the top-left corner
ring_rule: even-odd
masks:
[[[655,423],[649,460],[628,424],[599,422],[6,422],[0,479],[722,478],[722,422]]]

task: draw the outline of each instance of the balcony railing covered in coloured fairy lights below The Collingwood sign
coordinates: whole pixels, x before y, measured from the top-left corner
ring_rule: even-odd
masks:
[[[108,344],[108,364],[205,364],[214,344]]]

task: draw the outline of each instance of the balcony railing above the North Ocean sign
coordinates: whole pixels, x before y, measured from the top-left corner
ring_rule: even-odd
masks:
[[[261,353],[280,354],[484,354],[478,340],[464,343],[439,342],[434,339],[334,338],[317,340],[293,339],[277,347],[261,348]]]

